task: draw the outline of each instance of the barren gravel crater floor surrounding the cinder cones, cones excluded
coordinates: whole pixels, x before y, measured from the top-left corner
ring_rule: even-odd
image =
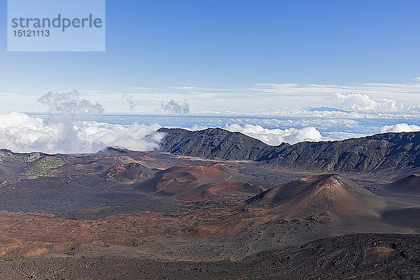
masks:
[[[128,155],[150,172],[214,164]],[[55,176],[31,180],[20,173],[24,163],[0,164],[0,279],[420,279],[419,197],[383,195],[386,209],[370,216],[286,219],[281,207],[248,204],[250,193],[185,201],[139,190],[109,176],[127,158],[103,157],[72,158]],[[255,162],[223,166],[241,174],[222,183],[265,188],[307,175]],[[190,169],[180,178],[195,180],[184,174]],[[379,194],[390,178],[347,175]]]

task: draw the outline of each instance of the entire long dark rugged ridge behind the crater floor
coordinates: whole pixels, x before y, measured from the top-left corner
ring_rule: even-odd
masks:
[[[375,172],[420,167],[420,132],[375,134],[342,141],[269,146],[240,132],[161,128],[161,151],[212,160],[252,160],[320,172]]]

